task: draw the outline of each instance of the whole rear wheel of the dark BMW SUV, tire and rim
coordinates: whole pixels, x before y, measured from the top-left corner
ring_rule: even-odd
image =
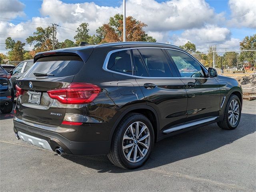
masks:
[[[142,166],[154,145],[154,130],[146,116],[130,113],[125,116],[114,133],[109,160],[116,166],[134,169]]]

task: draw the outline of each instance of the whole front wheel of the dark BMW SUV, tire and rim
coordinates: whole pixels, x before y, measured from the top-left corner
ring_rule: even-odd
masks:
[[[231,95],[224,111],[224,118],[218,122],[218,126],[222,129],[235,129],[241,118],[241,102],[236,95]]]

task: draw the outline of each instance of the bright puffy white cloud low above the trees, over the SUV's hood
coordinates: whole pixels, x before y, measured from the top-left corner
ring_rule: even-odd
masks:
[[[196,48],[201,52],[207,52],[209,46],[217,44],[218,50],[238,50],[240,39],[231,38],[231,32],[228,28],[216,25],[206,25],[203,28],[194,28],[185,30],[179,36],[173,35],[172,40],[176,45],[184,45],[190,41],[196,44]]]

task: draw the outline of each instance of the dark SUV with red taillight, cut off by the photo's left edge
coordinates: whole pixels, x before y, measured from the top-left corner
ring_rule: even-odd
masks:
[[[2,113],[12,111],[14,92],[10,78],[11,75],[0,65],[0,110]]]

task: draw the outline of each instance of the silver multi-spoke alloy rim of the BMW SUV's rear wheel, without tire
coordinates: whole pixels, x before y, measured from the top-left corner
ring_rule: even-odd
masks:
[[[150,132],[142,122],[134,122],[124,133],[122,150],[126,159],[132,163],[142,160],[150,146]]]

